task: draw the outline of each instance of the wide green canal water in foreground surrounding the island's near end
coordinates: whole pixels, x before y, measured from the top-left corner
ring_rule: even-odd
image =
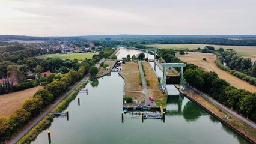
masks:
[[[159,68],[156,70],[160,76]],[[118,73],[86,88],[88,95],[77,96],[80,106],[76,98],[67,107],[69,120],[54,118],[32,143],[48,143],[47,131],[51,131],[52,143],[249,143],[172,85],[168,85],[165,122],[145,119],[143,123],[141,116],[128,113],[122,123],[123,79]]]

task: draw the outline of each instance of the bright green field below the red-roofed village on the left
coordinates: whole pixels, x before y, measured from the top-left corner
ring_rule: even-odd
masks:
[[[99,54],[97,53],[67,53],[67,54],[60,54],[60,53],[56,53],[56,54],[47,54],[47,55],[41,55],[41,56],[37,56],[36,58],[60,58],[60,59],[78,59],[79,61],[84,60],[85,58],[89,59],[92,58],[94,54]]]

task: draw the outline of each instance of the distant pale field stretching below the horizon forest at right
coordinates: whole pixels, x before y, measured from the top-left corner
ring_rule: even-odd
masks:
[[[198,47],[205,46],[213,46],[215,49],[219,49],[220,47],[224,49],[234,49],[241,56],[255,56],[256,55],[256,47],[255,46],[220,46],[220,45],[212,45],[212,44],[152,44],[147,46],[159,47],[162,49],[197,49]]]

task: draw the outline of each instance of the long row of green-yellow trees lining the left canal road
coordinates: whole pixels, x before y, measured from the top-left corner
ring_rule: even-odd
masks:
[[[22,107],[11,113],[10,116],[0,117],[0,137],[13,136],[22,129],[29,120],[39,115],[42,109],[52,104],[56,98],[60,97],[61,94],[64,94],[64,92],[68,90],[69,86],[82,79],[82,77],[88,73],[90,68],[94,65],[95,58],[85,59],[81,63],[78,63],[76,59],[74,61],[62,61],[58,58],[34,60],[37,60],[37,62],[44,61],[48,63],[46,64],[48,67],[52,65],[54,61],[59,61],[58,64],[52,67],[60,68],[49,76],[41,76],[41,73],[37,74],[38,79],[34,80],[34,82],[43,83],[43,85],[45,85],[44,88],[35,92],[32,100],[26,100]],[[9,70],[10,68],[8,68],[8,71]]]

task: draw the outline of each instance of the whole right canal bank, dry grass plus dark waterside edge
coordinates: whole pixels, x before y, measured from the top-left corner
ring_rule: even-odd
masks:
[[[175,85],[175,87],[178,89],[177,85]],[[197,94],[195,91],[194,94],[190,94],[190,90],[181,91],[179,89],[179,91],[187,98],[189,98],[189,100],[194,101],[211,115],[215,116],[217,119],[219,119],[219,121],[239,133],[241,136],[245,137],[245,139],[247,139],[249,142],[256,143],[255,128],[251,127],[236,116],[212,103],[212,101],[209,101],[206,98],[202,97],[200,94]],[[225,115],[228,115],[230,118],[224,119]]]

